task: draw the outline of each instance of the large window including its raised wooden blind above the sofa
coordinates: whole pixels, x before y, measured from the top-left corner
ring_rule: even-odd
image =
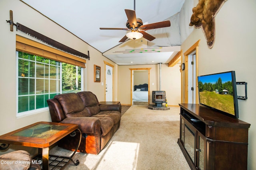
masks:
[[[48,107],[56,94],[83,90],[86,59],[16,35],[17,116]]]

